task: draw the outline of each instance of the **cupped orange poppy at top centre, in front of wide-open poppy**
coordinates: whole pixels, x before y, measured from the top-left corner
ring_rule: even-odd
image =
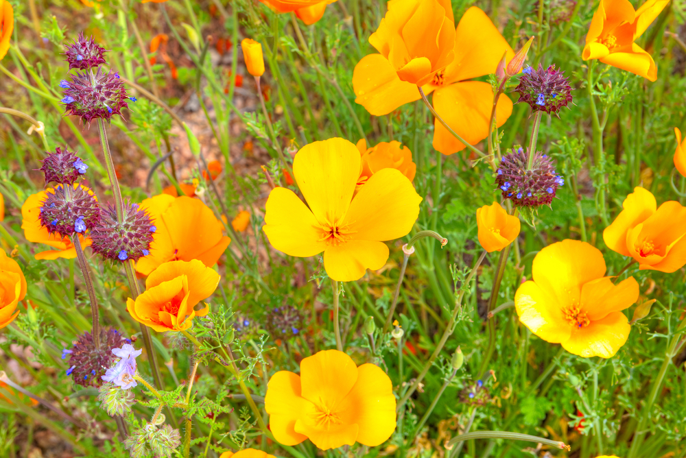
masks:
[[[423,86],[455,58],[450,0],[392,0],[369,43],[404,82]]]

